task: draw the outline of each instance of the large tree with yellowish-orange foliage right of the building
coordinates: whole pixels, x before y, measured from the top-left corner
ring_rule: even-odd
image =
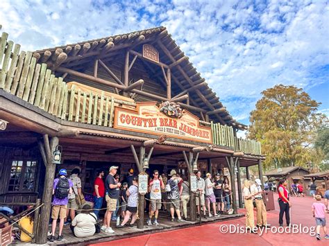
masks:
[[[317,113],[319,105],[294,86],[276,85],[262,91],[262,98],[251,112],[248,137],[262,143],[266,169],[321,162],[323,155],[313,147],[315,132],[324,117]]]

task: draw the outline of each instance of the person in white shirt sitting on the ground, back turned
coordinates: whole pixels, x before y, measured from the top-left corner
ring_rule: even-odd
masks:
[[[71,231],[77,238],[85,238],[86,236],[94,236],[96,232],[95,225],[97,223],[96,214],[92,213],[90,205],[83,205],[81,213],[79,213],[71,222]]]

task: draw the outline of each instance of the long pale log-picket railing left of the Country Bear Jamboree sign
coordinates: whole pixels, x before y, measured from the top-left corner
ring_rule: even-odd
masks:
[[[63,79],[51,74],[47,64],[37,64],[33,53],[20,45],[0,39],[0,89],[22,98],[53,116],[67,121],[112,127],[115,105],[135,107],[135,103],[67,87]]]

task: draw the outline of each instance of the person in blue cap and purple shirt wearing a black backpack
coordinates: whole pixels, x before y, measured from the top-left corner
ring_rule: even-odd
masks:
[[[67,170],[60,169],[58,173],[58,178],[53,180],[53,207],[51,207],[51,218],[53,222],[51,223],[51,236],[49,236],[49,241],[53,242],[56,240],[55,231],[58,218],[60,219],[59,231],[57,240],[62,240],[62,229],[64,225],[64,220],[67,215],[67,203],[69,202],[69,194],[71,194],[73,183],[71,179],[67,178]]]

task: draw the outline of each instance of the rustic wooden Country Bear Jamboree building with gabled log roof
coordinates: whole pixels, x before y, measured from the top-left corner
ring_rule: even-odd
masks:
[[[0,204],[44,204],[39,225],[48,225],[59,168],[81,168],[85,192],[96,171],[113,164],[121,175],[128,168],[228,168],[238,191],[240,168],[248,176],[248,166],[258,165],[262,178],[260,143],[236,137],[247,126],[229,114],[165,27],[35,52],[19,51],[7,33],[0,44]],[[232,187],[236,213],[242,194]],[[47,230],[39,227],[37,243],[46,243]]]

